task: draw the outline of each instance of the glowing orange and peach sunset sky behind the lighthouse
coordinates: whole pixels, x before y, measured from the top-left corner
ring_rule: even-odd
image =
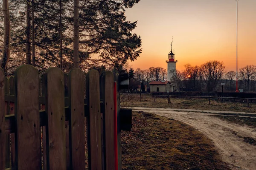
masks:
[[[125,14],[138,21],[134,33],[142,38],[132,68],[167,68],[173,37],[178,70],[215,59],[236,71],[236,0],[141,0]],[[238,68],[250,64],[256,64],[256,0],[239,0]]]

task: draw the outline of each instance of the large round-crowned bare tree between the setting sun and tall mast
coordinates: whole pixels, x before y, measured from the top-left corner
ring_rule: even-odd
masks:
[[[213,91],[224,74],[223,62],[217,60],[205,62],[201,65],[202,78],[207,85],[208,92]]]

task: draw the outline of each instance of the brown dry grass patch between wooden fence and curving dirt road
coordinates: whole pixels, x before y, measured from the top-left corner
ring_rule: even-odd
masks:
[[[133,112],[122,132],[123,170],[229,170],[212,142],[174,119]]]

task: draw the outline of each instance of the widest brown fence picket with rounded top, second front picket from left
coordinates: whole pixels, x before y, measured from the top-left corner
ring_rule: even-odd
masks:
[[[15,71],[15,156],[18,170],[41,169],[38,71],[21,65]]]

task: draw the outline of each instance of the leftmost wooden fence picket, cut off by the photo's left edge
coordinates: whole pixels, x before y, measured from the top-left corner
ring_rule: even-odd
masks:
[[[4,84],[4,72],[0,68],[0,170],[5,168],[6,164],[6,131],[5,131],[5,84]]]

